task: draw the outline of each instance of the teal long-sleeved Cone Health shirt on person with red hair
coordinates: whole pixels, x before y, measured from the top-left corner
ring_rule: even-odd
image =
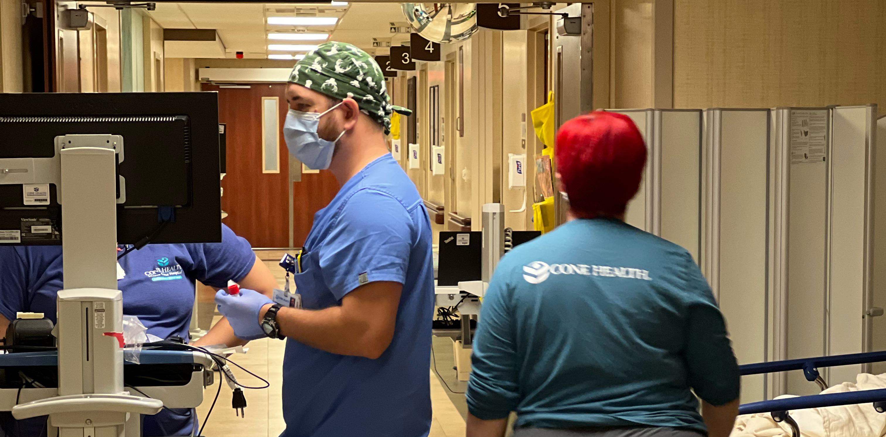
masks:
[[[688,252],[624,222],[574,220],[501,259],[472,356],[470,413],[517,426],[706,432],[698,397],[738,399],[738,364]],[[695,394],[693,394],[695,392]]]

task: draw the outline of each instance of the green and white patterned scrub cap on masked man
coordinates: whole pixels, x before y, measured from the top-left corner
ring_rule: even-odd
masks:
[[[330,98],[353,98],[362,113],[391,132],[391,114],[412,111],[391,105],[385,75],[369,53],[348,44],[330,41],[305,55],[292,67],[290,83],[297,83]]]

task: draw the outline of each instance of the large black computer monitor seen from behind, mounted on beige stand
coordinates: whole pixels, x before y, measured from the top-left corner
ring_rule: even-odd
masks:
[[[10,184],[14,173],[4,174],[4,168],[15,167],[10,159],[52,158],[55,138],[72,134],[122,137],[119,244],[152,235],[159,211],[168,207],[175,208],[175,222],[168,222],[152,243],[221,241],[215,92],[39,93],[0,94],[0,230],[31,229],[36,223],[51,232],[26,232],[19,242],[0,244],[61,244],[58,187],[50,186],[46,203],[26,205],[22,184]]]

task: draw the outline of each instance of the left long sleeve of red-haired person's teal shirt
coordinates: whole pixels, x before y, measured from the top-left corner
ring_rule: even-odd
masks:
[[[520,358],[517,356],[517,336],[514,328],[514,310],[508,302],[511,271],[505,267],[495,270],[483,299],[474,350],[470,357],[472,372],[465,397],[468,410],[474,417],[494,420],[508,417],[519,402]]]

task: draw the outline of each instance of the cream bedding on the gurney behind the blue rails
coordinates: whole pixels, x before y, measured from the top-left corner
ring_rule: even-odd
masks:
[[[829,387],[821,394],[857,392],[886,388],[886,373],[861,373],[856,382]],[[776,399],[795,397],[779,396]],[[870,403],[792,410],[803,437],[879,437],[886,433],[886,414],[874,410]],[[776,423],[769,413],[739,416],[730,437],[789,437],[790,425]]]

